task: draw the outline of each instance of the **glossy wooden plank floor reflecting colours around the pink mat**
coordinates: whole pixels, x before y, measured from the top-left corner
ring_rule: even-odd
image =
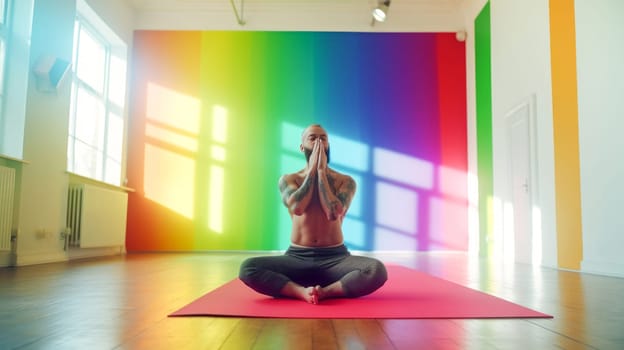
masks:
[[[247,256],[129,254],[0,268],[0,349],[624,349],[624,279],[459,253],[376,256],[555,317],[167,317],[236,277]]]

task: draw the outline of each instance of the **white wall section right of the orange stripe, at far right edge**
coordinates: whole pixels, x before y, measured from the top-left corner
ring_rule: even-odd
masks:
[[[583,262],[624,276],[624,1],[577,0]]]

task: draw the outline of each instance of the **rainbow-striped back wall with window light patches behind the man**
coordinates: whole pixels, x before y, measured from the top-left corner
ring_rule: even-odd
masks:
[[[137,31],[129,251],[277,250],[277,182],[330,134],[353,250],[467,250],[465,47],[453,33]]]

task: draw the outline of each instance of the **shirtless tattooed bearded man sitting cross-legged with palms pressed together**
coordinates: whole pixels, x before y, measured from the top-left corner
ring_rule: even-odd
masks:
[[[329,140],[320,125],[304,130],[299,148],[307,166],[279,180],[292,219],[291,245],[284,255],[245,260],[240,279],[259,293],[312,304],[374,292],[387,280],[385,266],[351,255],[343,243],[342,220],[355,181],[328,167]]]

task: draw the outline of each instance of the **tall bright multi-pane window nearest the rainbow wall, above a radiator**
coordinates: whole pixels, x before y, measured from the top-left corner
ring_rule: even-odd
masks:
[[[78,1],[67,166],[72,173],[122,184],[126,46]]]

